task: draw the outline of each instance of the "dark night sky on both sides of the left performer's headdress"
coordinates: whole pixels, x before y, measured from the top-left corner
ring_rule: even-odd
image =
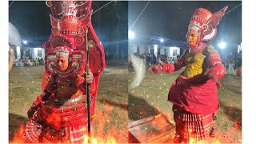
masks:
[[[13,1],[9,1],[9,5]],[[113,43],[127,39],[128,2],[92,2],[92,25],[106,50],[114,50]],[[42,46],[50,38],[50,8],[45,1],[14,1],[9,7],[9,22],[20,32],[22,39],[29,42],[26,46]],[[117,32],[117,28],[118,32]],[[118,37],[117,37],[118,36]],[[124,46],[124,43],[121,43]],[[25,45],[23,45],[25,46]],[[126,42],[127,46],[127,42]]]

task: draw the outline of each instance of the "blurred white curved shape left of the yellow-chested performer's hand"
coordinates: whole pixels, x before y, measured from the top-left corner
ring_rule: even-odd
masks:
[[[134,55],[130,55],[130,61],[134,65],[135,75],[134,75],[133,81],[131,82],[129,88],[134,89],[137,86],[139,86],[139,84],[142,82],[143,78],[145,78],[146,66],[145,66],[142,58],[138,58]]]

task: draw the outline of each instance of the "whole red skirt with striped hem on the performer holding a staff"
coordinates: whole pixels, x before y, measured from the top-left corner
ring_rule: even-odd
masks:
[[[43,105],[26,123],[24,138],[27,143],[82,143],[87,123],[84,104],[61,108]]]

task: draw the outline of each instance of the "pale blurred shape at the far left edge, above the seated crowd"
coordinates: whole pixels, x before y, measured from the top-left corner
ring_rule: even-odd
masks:
[[[9,22],[9,43],[15,46],[22,46],[21,36],[16,27]]]

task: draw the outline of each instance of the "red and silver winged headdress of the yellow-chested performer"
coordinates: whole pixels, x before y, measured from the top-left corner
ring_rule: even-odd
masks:
[[[228,6],[212,14],[209,10],[198,8],[195,10],[188,29],[198,30],[200,41],[208,42],[214,39],[217,34],[217,26]]]

